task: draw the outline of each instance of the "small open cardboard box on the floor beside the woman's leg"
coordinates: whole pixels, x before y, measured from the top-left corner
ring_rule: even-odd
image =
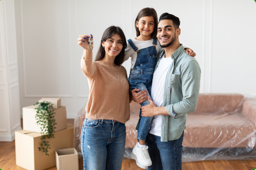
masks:
[[[55,151],[57,170],[79,170],[78,154],[75,148]]]

